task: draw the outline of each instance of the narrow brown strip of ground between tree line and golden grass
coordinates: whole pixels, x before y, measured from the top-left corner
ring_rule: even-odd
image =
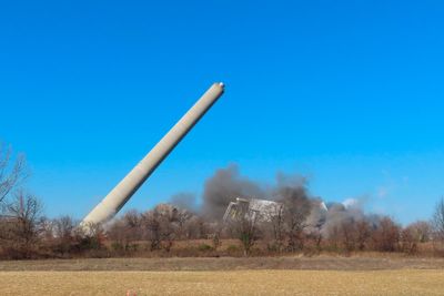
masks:
[[[0,271],[383,271],[444,269],[444,258],[316,256],[250,258],[110,258],[0,262]]]

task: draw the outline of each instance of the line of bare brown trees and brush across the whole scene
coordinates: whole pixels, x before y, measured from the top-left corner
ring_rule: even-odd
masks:
[[[199,211],[160,204],[129,211],[107,225],[79,227],[69,216],[48,218],[27,192],[23,156],[0,147],[0,258],[113,256],[274,256],[294,253],[390,252],[444,256],[444,198],[430,221],[405,227],[387,216],[311,218],[303,188],[282,187],[280,208],[265,220],[249,214],[223,222]]]

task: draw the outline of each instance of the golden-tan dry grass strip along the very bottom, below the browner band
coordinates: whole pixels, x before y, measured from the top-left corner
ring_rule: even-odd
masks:
[[[0,272],[0,295],[443,294],[443,271]]]

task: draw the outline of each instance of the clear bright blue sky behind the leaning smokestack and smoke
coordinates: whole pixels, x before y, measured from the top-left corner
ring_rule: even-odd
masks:
[[[428,218],[444,194],[443,16],[442,1],[3,1],[0,139],[28,155],[47,213],[80,218],[223,81],[125,208],[199,194],[238,163]]]

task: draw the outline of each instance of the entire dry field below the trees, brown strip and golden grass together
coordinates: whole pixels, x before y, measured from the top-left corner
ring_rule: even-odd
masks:
[[[0,295],[444,295],[444,259],[296,256],[0,262]]]

